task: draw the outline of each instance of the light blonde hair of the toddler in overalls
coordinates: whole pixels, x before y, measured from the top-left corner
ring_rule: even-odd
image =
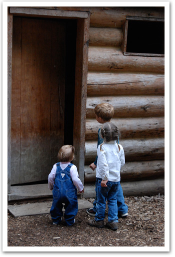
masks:
[[[75,147],[69,144],[63,145],[58,152],[58,159],[62,162],[71,161],[74,158]]]

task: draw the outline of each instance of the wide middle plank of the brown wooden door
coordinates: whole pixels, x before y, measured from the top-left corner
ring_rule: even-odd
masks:
[[[50,28],[22,18],[20,183],[44,179],[49,163]]]

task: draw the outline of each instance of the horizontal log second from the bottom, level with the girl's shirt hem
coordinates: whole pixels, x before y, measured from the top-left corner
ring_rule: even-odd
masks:
[[[95,182],[96,169],[92,170],[89,165],[84,167],[84,182]],[[163,176],[165,172],[164,160],[132,161],[126,162],[121,168],[121,181],[143,180],[148,177]]]

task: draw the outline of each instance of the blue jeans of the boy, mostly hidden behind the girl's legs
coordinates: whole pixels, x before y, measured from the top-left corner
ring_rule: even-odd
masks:
[[[97,208],[96,208],[96,204],[97,204],[97,184],[98,184],[98,178],[96,177],[96,182],[95,182],[95,192],[96,192],[96,196],[95,196],[95,200],[93,202],[93,210],[96,212]],[[125,198],[123,196],[123,190],[122,190],[122,186],[121,184],[119,184],[119,191],[117,193],[117,206],[118,206],[118,214],[125,214],[128,212],[128,206],[125,203]]]

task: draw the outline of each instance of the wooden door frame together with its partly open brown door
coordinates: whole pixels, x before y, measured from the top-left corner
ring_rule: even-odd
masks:
[[[72,140],[84,183],[90,12],[7,11],[8,193],[11,185],[47,179],[59,148]]]

